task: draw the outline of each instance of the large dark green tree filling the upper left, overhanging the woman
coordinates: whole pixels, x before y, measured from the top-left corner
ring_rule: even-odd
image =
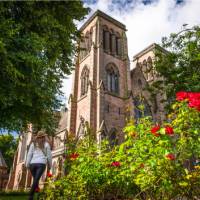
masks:
[[[0,2],[0,128],[53,132],[62,80],[73,69],[81,1]]]

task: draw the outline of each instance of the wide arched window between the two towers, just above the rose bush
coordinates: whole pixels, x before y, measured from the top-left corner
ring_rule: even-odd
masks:
[[[136,120],[144,116],[152,116],[150,107],[147,101],[143,97],[141,96],[135,97],[133,103],[134,103],[134,113]]]

